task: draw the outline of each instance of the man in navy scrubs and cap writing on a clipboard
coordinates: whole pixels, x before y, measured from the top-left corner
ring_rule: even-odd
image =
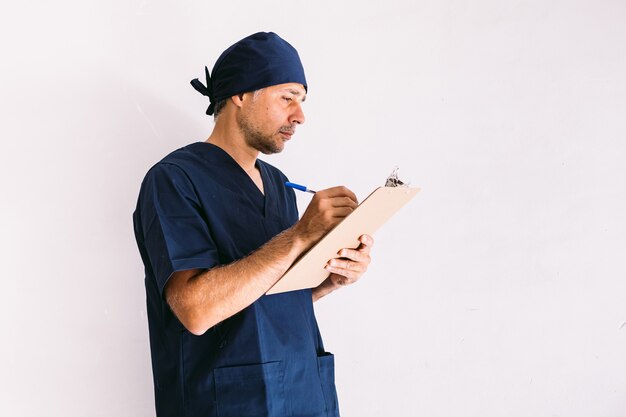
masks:
[[[257,159],[304,123],[296,50],[274,33],[228,48],[207,86],[206,142],[150,169],[133,220],[145,285],[158,416],[338,416],[333,355],[313,301],[357,281],[373,239],[343,249],[317,288],[264,295],[357,206],[344,187],[319,191],[298,220],[285,175]]]

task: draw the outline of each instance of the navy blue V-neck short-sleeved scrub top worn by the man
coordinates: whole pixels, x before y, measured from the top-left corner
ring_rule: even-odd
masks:
[[[265,195],[224,150],[199,142],[166,156],[141,185],[133,221],[157,416],[339,416],[334,358],[324,351],[311,290],[263,296],[202,336],[163,297],[173,272],[229,264],[298,221],[285,175],[261,160],[256,166]]]

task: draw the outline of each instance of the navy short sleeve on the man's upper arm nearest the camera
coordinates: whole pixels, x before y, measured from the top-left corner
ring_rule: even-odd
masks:
[[[176,165],[159,163],[140,196],[144,247],[161,296],[172,273],[219,264],[195,187]]]

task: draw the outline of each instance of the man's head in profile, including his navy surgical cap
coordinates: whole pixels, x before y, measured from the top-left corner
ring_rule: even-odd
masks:
[[[282,151],[304,123],[307,83],[298,52],[275,33],[259,32],[235,43],[216,61],[207,86],[191,82],[208,96],[207,114],[226,113],[248,146],[263,153]]]

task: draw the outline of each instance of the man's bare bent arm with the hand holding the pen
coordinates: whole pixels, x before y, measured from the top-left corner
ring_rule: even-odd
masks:
[[[201,335],[267,292],[304,251],[357,207],[345,187],[319,191],[304,215],[245,258],[210,270],[172,274],[165,300],[187,330]]]

